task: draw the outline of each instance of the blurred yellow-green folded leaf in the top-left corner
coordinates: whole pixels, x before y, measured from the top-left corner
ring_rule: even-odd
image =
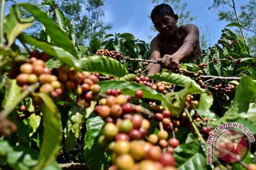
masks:
[[[21,19],[19,6],[13,5],[10,7],[10,12],[6,16],[6,23],[4,30],[7,34],[8,46],[11,46],[16,37],[26,28],[30,27],[34,22],[31,17],[29,19]]]

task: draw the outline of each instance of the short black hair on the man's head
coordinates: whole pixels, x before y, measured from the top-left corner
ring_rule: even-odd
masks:
[[[151,20],[154,23],[154,17],[156,15],[167,15],[174,16],[173,8],[171,8],[168,4],[161,3],[160,5],[155,6],[155,8],[151,12]]]

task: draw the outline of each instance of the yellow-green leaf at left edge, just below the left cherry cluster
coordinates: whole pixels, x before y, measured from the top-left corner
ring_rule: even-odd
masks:
[[[16,84],[16,79],[7,79],[5,97],[2,101],[2,107],[8,108],[13,101],[20,95],[21,87]]]

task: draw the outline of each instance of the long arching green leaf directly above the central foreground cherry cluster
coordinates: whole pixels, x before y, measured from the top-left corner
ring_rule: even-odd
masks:
[[[168,99],[162,93],[157,93],[155,90],[135,82],[112,80],[112,81],[100,81],[98,82],[98,84],[101,86],[102,93],[105,93],[107,89],[121,89],[122,94],[128,94],[134,97],[135,91],[142,90],[143,98],[156,99],[156,100],[165,101],[169,103]]]

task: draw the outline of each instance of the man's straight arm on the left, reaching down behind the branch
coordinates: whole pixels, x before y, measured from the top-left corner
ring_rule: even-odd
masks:
[[[161,49],[157,45],[157,37],[155,37],[150,43],[151,56],[150,60],[158,60],[161,58]],[[149,68],[147,75],[155,74],[160,72],[161,65],[160,64],[152,64]]]

